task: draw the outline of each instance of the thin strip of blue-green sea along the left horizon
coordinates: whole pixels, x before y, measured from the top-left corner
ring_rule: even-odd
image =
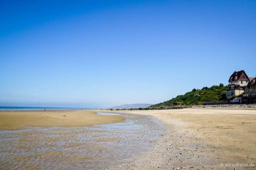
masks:
[[[71,108],[71,107],[13,107],[13,106],[0,106],[0,110],[73,110],[73,109],[81,109],[81,108]],[[89,109],[89,108],[82,108]]]

